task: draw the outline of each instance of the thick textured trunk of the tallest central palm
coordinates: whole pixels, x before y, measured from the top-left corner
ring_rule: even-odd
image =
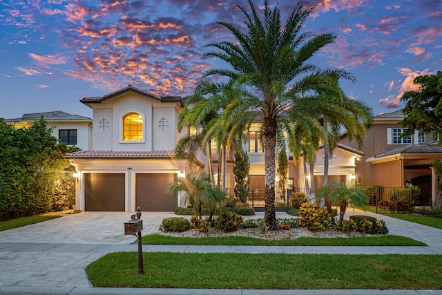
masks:
[[[262,120],[262,140],[265,154],[265,223],[271,230],[277,229],[275,213],[275,173],[276,173],[276,120],[264,117]]]

